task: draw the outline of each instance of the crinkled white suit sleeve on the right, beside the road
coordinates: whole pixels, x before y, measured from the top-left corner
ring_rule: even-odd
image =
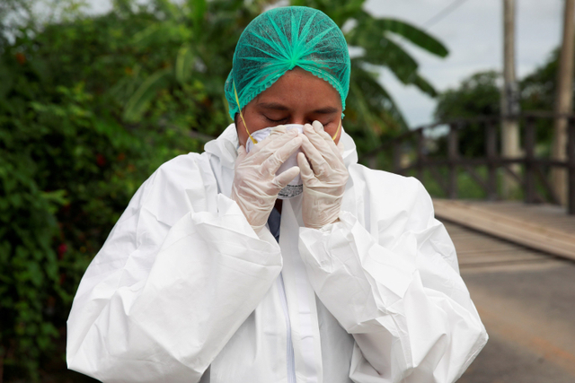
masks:
[[[409,206],[392,220],[401,224],[374,209],[379,230],[344,211],[321,230],[300,229],[317,296],[355,338],[357,383],[453,382],[488,338],[428,193],[407,182]]]

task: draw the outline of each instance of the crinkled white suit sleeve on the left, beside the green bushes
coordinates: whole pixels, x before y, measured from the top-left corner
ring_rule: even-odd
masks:
[[[184,157],[140,187],[84,274],[68,368],[103,382],[198,382],[279,274],[269,232],[258,237],[217,194],[208,161]]]

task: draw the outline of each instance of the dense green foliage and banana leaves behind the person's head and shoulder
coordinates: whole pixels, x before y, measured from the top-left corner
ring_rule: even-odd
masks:
[[[229,124],[224,83],[243,28],[269,0],[116,0],[88,16],[82,2],[0,2],[0,365],[45,380],[62,368],[70,304],[86,266],[137,187],[161,163]],[[352,60],[346,129],[359,150],[405,127],[377,81],[388,67],[435,94],[403,48],[444,57],[417,28],[376,19],[365,0],[293,1],[322,9],[363,51]],[[355,23],[355,26],[354,26]],[[361,25],[361,28],[359,28]],[[0,369],[1,370],[1,369]]]

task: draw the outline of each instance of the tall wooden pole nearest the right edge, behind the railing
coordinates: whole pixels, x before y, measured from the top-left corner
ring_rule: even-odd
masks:
[[[555,113],[571,113],[573,109],[573,50],[575,39],[575,0],[565,0],[563,13],[563,41],[559,56]],[[567,159],[567,118],[555,118],[553,128],[553,160]],[[567,204],[567,171],[554,168],[551,172],[553,189],[562,205]]]

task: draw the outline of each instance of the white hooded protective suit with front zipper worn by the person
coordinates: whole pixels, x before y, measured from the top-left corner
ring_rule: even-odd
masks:
[[[301,196],[285,200],[279,245],[228,197],[234,125],[164,163],[84,274],[68,367],[104,382],[458,379],[487,334],[453,243],[419,181],[358,165],[341,140],[340,222],[305,228]]]

